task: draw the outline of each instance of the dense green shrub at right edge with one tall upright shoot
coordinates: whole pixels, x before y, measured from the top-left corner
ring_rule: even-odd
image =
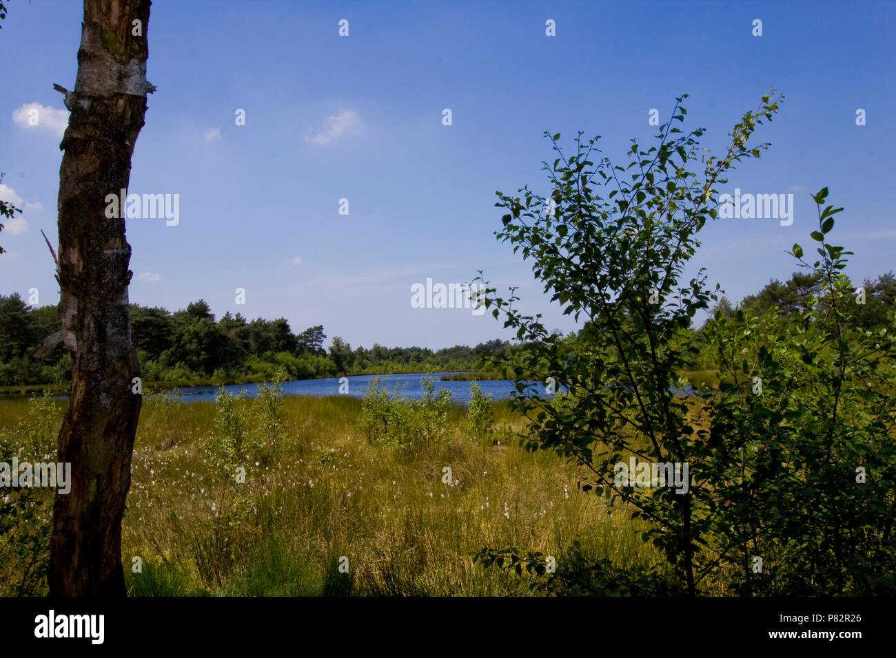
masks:
[[[717,313],[708,325],[721,395],[711,398],[714,448],[697,458],[712,469],[710,501],[726,503],[716,503],[711,549],[739,549],[719,560],[734,594],[896,591],[896,341],[857,321],[862,302],[842,271],[851,252],[828,242],[842,209],[822,209],[827,194],[814,195],[821,259],[808,263],[793,245],[823,282],[801,321],[772,307],[763,317]]]

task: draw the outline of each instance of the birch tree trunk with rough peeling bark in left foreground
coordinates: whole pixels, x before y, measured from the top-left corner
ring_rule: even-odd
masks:
[[[58,460],[72,489],[56,494],[49,590],[57,596],[125,595],[121,522],[142,398],[131,344],[125,218],[106,196],[126,189],[143,126],[150,0],[84,0],[78,74],[60,149],[59,284],[72,389]],[[111,213],[110,213],[111,214]]]

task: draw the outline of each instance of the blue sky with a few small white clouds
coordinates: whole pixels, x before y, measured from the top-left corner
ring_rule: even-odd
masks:
[[[73,87],[82,5],[9,5],[0,192],[25,212],[0,233],[0,294],[36,287],[39,303],[56,303],[39,229],[56,242],[66,118],[52,85]],[[219,317],[323,324],[353,347],[473,345],[510,335],[490,314],[411,308],[410,286],[483,269],[500,288],[520,286],[521,308],[548,328],[575,329],[495,240],[495,191],[548,191],[545,130],[570,153],[577,131],[600,134],[604,154],[627,165],[629,139],[649,145],[656,133],[650,109],[664,123],[683,93],[685,127],[706,127],[702,146],[719,152],[771,86],[786,96],[756,133],[771,149],[724,190],[793,193],[793,224],[708,224],[689,273],[708,268],[732,300],[785,280],[796,268],[784,252],[807,246],[817,221],[809,194],[827,185],[846,209],[833,235],[856,252],[849,274],[873,278],[896,269],[894,18],[892,2],[155,0],[147,77],[158,90],[129,192],[179,194],[180,218],[128,221],[131,301],[174,311],[204,298]],[[23,118],[30,107],[37,126]]]

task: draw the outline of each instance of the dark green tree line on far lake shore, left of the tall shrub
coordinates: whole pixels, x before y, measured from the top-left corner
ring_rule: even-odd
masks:
[[[326,346],[323,325],[294,333],[285,318],[248,320],[226,312],[216,320],[199,300],[185,309],[131,304],[131,332],[144,381],[273,380],[283,368],[290,379],[345,374],[475,370],[484,357],[506,360],[511,344],[490,340],[477,346],[370,348],[333,337]],[[35,351],[62,328],[58,305],[34,307],[18,293],[0,295],[0,386],[61,384],[71,378],[65,346],[40,360]]]

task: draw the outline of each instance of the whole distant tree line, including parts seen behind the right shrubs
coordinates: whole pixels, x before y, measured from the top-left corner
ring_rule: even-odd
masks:
[[[779,309],[785,319],[796,320],[806,312],[808,300],[817,297],[823,280],[816,273],[794,272],[785,282],[772,279],[758,293],[739,304],[722,296],[713,312],[733,319],[737,309],[761,317]],[[887,310],[896,302],[896,276],[892,270],[861,286],[864,303],[857,303],[850,316],[855,329],[879,329],[887,324]],[[694,368],[716,370],[719,364],[705,337],[706,324],[684,329],[679,339],[693,341],[699,350]],[[44,360],[32,358],[47,337],[61,329],[59,307],[30,306],[18,293],[0,295],[0,386],[61,384],[71,378],[71,363],[64,346]],[[215,320],[209,304],[200,299],[183,310],[168,312],[158,306],[131,304],[134,346],[146,381],[254,381],[273,380],[282,367],[290,379],[339,377],[353,374],[421,372],[427,367],[444,371],[491,369],[502,363],[519,363],[528,352],[526,344],[500,339],[477,346],[385,347],[352,346],[333,337],[326,345],[323,325],[296,334],[285,318],[247,320],[240,313],[226,312]],[[587,338],[589,326],[564,338],[579,342]]]

